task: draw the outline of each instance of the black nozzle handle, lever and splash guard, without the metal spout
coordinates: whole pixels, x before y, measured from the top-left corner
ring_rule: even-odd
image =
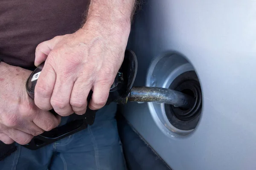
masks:
[[[29,94],[29,97],[31,97],[32,99],[34,99],[35,85],[43,67],[44,63],[39,65],[32,72],[26,82],[26,90]],[[126,50],[122,66],[119,69],[118,74],[116,75],[113,85],[111,86],[106,105],[109,105],[111,102],[120,102],[122,101],[122,99],[127,98],[133,86],[136,74],[137,57],[133,51]],[[93,91],[90,91],[87,97],[88,102],[91,99],[92,93]],[[57,114],[53,109],[50,112],[55,115]],[[97,111],[90,110],[90,108],[88,108],[87,106],[87,111],[83,115],[77,115],[73,113],[72,115],[70,115],[69,119],[71,121],[69,123],[60,127],[56,127],[48,132],[46,131],[41,135],[34,136],[29,144],[23,146],[31,150],[35,150],[52,142],[58,141],[59,139],[62,139],[80,130],[83,130],[87,128],[88,125],[93,125],[96,112]]]

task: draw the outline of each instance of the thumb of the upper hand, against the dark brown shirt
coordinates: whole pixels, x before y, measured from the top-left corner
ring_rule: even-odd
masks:
[[[61,36],[52,38],[51,40],[41,42],[35,49],[35,66],[37,67],[44,62],[52,51],[54,46],[59,42]]]

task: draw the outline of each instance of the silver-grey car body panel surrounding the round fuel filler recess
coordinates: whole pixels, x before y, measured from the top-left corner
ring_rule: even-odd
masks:
[[[123,109],[173,170],[256,169],[256,0],[148,0],[128,48],[139,64],[134,85],[146,85],[166,51],[183,54],[200,79],[203,111],[187,136],[166,134],[147,103]]]

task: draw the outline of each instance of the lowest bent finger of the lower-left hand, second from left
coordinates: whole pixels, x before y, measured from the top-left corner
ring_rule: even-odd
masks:
[[[31,141],[31,139],[34,137],[33,135],[25,133],[21,130],[12,129],[12,128],[7,129],[5,133],[18,144],[28,144]]]

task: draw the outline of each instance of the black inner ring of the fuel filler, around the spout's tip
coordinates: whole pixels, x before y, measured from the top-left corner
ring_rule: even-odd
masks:
[[[202,93],[195,71],[186,71],[176,77],[170,89],[183,92],[195,98],[194,105],[189,108],[178,108],[165,104],[165,112],[169,122],[180,130],[192,130],[198,124],[202,108]]]

